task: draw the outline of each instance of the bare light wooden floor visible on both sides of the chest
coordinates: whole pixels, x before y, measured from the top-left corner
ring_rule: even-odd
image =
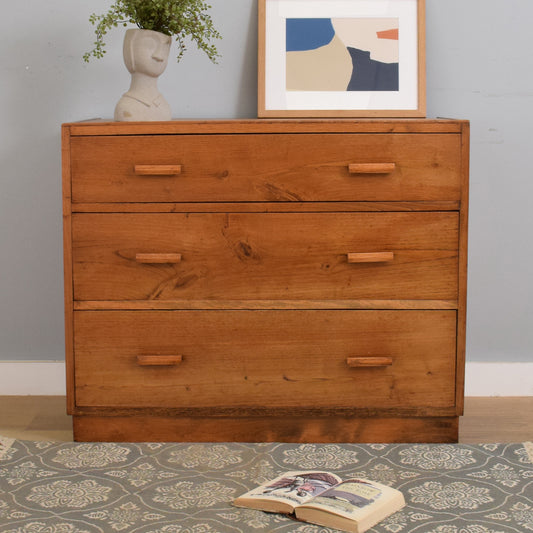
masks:
[[[0,435],[72,441],[62,396],[0,396]],[[464,443],[533,441],[533,396],[467,398],[459,426]]]

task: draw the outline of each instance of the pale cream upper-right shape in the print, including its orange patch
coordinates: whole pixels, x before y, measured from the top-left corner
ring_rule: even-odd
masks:
[[[398,30],[397,18],[338,18],[331,23],[345,46],[370,52],[374,61],[399,62],[398,33],[390,31]]]

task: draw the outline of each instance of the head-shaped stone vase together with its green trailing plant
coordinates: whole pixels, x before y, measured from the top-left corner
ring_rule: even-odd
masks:
[[[177,61],[190,39],[216,63],[219,54],[211,41],[220,34],[208,13],[210,8],[203,0],[116,0],[104,15],[91,15],[96,41],[83,56],[85,61],[103,57],[110,29],[137,26],[124,37],[124,63],[131,85],[115,108],[115,120],[170,120],[170,106],[157,89],[157,79],[166,68],[172,37],[178,43]]]

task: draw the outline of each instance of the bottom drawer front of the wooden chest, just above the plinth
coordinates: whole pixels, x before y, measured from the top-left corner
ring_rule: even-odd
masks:
[[[74,315],[78,407],[442,408],[455,401],[455,311]]]

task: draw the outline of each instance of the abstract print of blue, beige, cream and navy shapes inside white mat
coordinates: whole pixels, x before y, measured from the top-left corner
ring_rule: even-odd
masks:
[[[288,91],[398,91],[397,18],[286,19]]]

